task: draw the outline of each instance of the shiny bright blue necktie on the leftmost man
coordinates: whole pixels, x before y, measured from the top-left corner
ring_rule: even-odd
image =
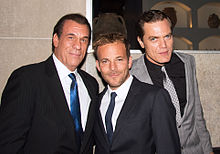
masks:
[[[83,130],[81,124],[81,113],[80,113],[77,82],[76,82],[76,77],[73,73],[70,73],[69,77],[72,79],[72,83],[70,86],[70,111],[74,120],[78,143],[80,143]]]

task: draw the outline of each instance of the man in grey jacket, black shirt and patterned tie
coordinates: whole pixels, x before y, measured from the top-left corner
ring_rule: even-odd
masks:
[[[195,59],[173,51],[169,17],[159,10],[144,12],[137,23],[137,34],[145,54],[133,61],[130,73],[169,92],[176,109],[182,154],[213,154],[199,97]]]

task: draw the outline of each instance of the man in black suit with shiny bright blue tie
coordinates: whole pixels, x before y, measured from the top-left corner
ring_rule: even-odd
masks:
[[[11,74],[1,99],[0,153],[93,153],[98,83],[78,67],[90,38],[84,16],[65,15],[54,27],[53,54]]]

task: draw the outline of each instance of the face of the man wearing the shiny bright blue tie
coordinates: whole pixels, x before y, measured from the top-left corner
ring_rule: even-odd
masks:
[[[85,57],[89,44],[87,25],[66,20],[62,34],[53,36],[54,54],[70,70],[74,71]]]

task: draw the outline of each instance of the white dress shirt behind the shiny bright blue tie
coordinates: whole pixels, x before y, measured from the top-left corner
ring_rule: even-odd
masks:
[[[80,111],[81,111],[81,123],[82,128],[85,130],[86,122],[87,122],[87,115],[89,111],[89,105],[91,98],[87,91],[87,88],[77,72],[77,69],[74,72],[71,72],[63,63],[61,63],[57,57],[53,54],[53,60],[63,87],[63,91],[66,97],[66,101],[68,107],[70,109],[70,85],[72,83],[72,79],[68,76],[70,73],[74,73],[76,76],[76,81],[78,85],[78,95],[79,95],[79,103],[80,103]]]

